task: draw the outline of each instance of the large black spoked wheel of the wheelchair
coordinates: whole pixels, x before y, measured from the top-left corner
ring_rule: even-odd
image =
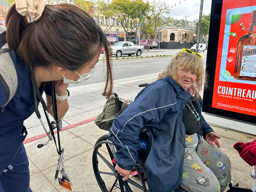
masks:
[[[120,189],[121,192],[148,192],[145,183],[146,179],[140,172],[141,167],[139,168],[137,165],[134,168],[138,172],[138,176],[130,177],[126,181],[122,180],[123,177],[115,170],[116,164],[113,161],[114,155],[111,145],[113,143],[110,135],[106,134],[96,141],[93,149],[92,167],[101,191],[111,192],[115,190],[116,192]]]

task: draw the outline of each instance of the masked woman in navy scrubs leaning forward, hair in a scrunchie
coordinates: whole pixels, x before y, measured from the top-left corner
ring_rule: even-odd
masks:
[[[0,113],[0,192],[31,192],[28,157],[23,145],[23,125],[35,111],[30,70],[46,93],[48,112],[53,116],[51,89],[56,81],[58,117],[68,111],[68,84],[78,84],[92,76],[102,46],[106,50],[105,95],[112,91],[112,64],[108,41],[92,17],[72,4],[46,5],[45,0],[17,0],[6,17],[6,40],[18,76],[18,88]],[[33,22],[28,19],[33,18]],[[0,81],[0,106],[6,90]]]

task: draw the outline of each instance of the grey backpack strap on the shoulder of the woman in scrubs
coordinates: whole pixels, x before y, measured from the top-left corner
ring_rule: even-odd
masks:
[[[16,69],[10,56],[10,49],[6,43],[6,28],[3,26],[0,26],[0,81],[6,92],[6,103],[0,106],[1,113],[4,112],[5,106],[12,100],[18,87]]]

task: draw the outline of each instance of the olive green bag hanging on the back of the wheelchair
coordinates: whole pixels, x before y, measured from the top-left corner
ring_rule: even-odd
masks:
[[[100,129],[109,131],[114,119],[118,117],[131,103],[132,100],[119,99],[118,95],[113,93],[113,95],[107,99],[102,113],[96,117],[94,123]]]

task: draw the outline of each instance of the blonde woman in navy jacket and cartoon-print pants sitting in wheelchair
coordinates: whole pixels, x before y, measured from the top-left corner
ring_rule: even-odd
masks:
[[[127,180],[138,159],[140,130],[146,126],[150,152],[145,169],[150,192],[220,192],[231,181],[231,163],[220,137],[201,114],[202,56],[177,53],[158,80],[145,87],[110,129],[116,171]]]

